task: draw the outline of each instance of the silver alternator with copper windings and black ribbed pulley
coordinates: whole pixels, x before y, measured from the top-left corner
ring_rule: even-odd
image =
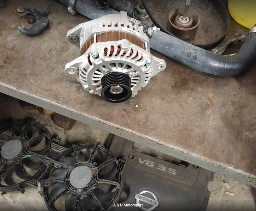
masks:
[[[80,56],[65,65],[65,72],[85,91],[109,102],[134,97],[166,67],[163,59],[151,55],[143,26],[133,24],[123,11],[79,24],[67,39],[80,48]]]

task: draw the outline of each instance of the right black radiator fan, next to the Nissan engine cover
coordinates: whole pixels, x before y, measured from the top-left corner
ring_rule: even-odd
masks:
[[[100,143],[73,146],[55,160],[61,167],[49,166],[41,181],[49,210],[108,210],[118,199],[125,161]]]

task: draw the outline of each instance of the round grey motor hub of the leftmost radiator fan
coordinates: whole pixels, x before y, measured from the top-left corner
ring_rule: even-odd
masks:
[[[1,155],[7,160],[15,159],[19,154],[22,153],[23,145],[18,139],[9,140],[4,144],[1,150]]]

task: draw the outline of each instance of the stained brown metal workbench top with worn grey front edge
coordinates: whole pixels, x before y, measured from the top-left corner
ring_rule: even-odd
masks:
[[[88,19],[70,15],[58,1],[20,4],[8,1],[0,9],[0,92],[256,187],[255,64],[225,78],[153,52],[166,60],[166,70],[131,100],[108,103],[64,73],[79,55],[66,33]],[[15,9],[42,4],[51,11],[49,29],[23,36],[17,26],[26,19]]]

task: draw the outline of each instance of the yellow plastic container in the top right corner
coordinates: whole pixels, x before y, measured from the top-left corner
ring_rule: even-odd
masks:
[[[228,10],[232,18],[244,27],[256,24],[256,0],[229,0]]]

